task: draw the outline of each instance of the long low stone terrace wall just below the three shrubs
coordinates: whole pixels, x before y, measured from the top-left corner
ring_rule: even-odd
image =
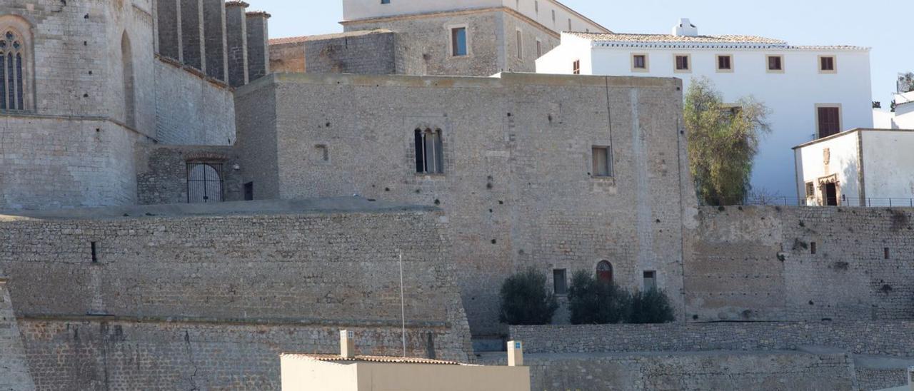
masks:
[[[914,357],[914,322],[722,322],[512,326],[527,353],[793,350],[827,346],[853,354]]]

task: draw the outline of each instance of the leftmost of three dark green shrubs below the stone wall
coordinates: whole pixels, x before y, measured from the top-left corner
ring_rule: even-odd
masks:
[[[546,275],[527,269],[502,284],[502,322],[512,325],[548,324],[558,309],[555,295],[546,289]]]

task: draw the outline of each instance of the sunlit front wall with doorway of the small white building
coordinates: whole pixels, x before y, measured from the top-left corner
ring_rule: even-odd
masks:
[[[839,198],[842,206],[860,205],[859,154],[856,132],[848,132],[819,143],[813,143],[794,151],[796,157],[796,195],[805,199],[806,205],[824,205],[824,195],[819,179],[835,175],[840,186]],[[825,164],[825,150],[828,150],[829,164]],[[806,197],[806,184],[813,183],[815,196]]]

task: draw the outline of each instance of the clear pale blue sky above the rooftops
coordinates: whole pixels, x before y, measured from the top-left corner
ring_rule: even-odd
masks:
[[[422,0],[400,0],[422,1]],[[455,0],[456,1],[456,0]],[[526,0],[532,1],[532,0]],[[914,71],[914,33],[904,2],[886,0],[563,0],[618,33],[668,34],[688,17],[700,34],[780,38],[793,45],[872,48],[873,100],[887,108],[898,72]],[[340,0],[248,0],[272,15],[271,37],[343,31]]]

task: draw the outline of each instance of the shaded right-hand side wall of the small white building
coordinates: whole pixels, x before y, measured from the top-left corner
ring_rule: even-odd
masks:
[[[866,197],[878,206],[914,204],[914,132],[865,131],[863,170]]]

